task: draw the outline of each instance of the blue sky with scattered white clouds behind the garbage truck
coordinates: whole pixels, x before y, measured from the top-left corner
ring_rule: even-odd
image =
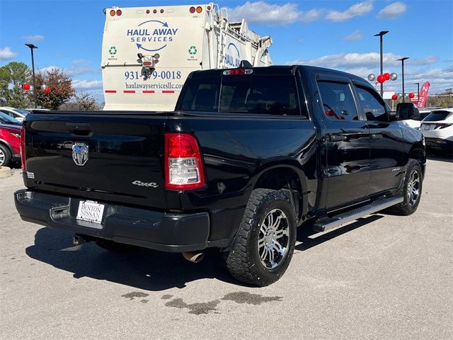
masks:
[[[193,1],[21,1],[0,0],[0,66],[11,61],[35,68],[59,67],[78,91],[103,101],[101,44],[103,8],[197,4]],[[198,2],[199,4],[199,2]],[[406,92],[430,81],[430,93],[453,87],[453,1],[219,1],[233,19],[246,18],[260,35],[271,35],[274,64],[316,64],[366,77],[379,74],[379,38],[384,36],[384,72],[401,74]],[[401,91],[401,77],[384,89]]]

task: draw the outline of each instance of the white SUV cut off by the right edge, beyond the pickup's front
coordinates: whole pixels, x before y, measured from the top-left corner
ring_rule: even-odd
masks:
[[[453,108],[433,110],[422,121],[420,130],[428,149],[453,152]]]

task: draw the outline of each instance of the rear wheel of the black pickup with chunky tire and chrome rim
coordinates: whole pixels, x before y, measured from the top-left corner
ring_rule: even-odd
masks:
[[[289,198],[282,191],[255,189],[226,255],[226,267],[244,283],[270,285],[287,270],[295,242],[294,208]]]

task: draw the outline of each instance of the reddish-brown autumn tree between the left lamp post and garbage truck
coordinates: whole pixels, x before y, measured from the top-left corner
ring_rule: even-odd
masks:
[[[42,85],[50,88],[49,93],[42,90]],[[58,110],[59,106],[69,101],[74,96],[75,90],[72,87],[72,79],[61,69],[55,68],[36,74],[36,97],[38,106]],[[28,94],[30,101],[33,101],[33,92]]]

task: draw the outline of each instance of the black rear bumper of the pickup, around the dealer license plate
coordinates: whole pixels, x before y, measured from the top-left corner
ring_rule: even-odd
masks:
[[[14,200],[25,221],[90,237],[171,252],[196,251],[219,243],[207,241],[210,234],[207,212],[166,213],[102,203],[103,220],[98,224],[76,219],[79,198],[23,189],[14,193]]]

